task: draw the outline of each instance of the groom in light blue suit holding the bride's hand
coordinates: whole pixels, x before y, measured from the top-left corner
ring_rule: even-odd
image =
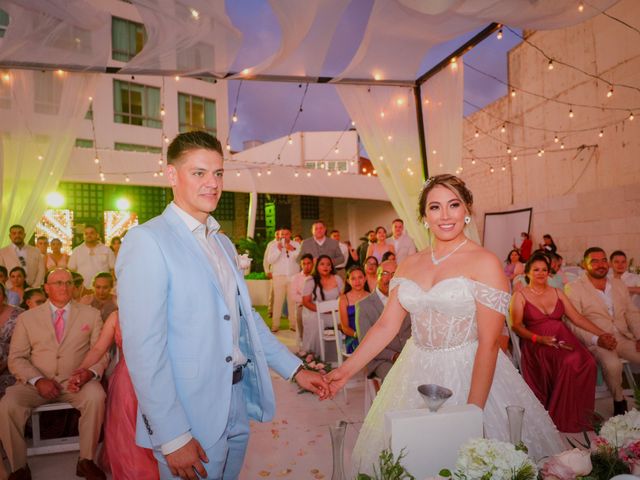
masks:
[[[178,135],[167,150],[174,200],[127,233],[116,264],[136,443],[154,450],[163,479],[238,477],[249,418],[274,415],[269,367],[328,395],[251,308],[235,249],[209,215],[222,163],[216,138]]]

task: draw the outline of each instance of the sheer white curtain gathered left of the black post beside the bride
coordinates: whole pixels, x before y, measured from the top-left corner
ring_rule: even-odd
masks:
[[[336,85],[396,212],[418,248],[428,236],[418,221],[422,165],[413,89]]]

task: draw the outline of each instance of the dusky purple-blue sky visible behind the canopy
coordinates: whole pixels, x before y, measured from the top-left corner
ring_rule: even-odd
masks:
[[[327,58],[323,75],[342,71],[355,53],[367,24],[372,0],[352,0],[338,25]],[[243,32],[243,45],[232,71],[241,71],[274,53],[279,46],[280,28],[271,7],[265,0],[227,0],[227,13],[232,23]],[[428,71],[440,60],[481,29],[437,45],[423,59],[420,74]],[[506,81],[507,52],[520,43],[508,30],[503,39],[496,35],[487,38],[467,53],[465,62]],[[252,46],[251,48],[249,46]],[[256,49],[261,45],[261,49]],[[235,151],[243,149],[243,142],[268,142],[289,134],[303,94],[297,83],[244,81],[229,82],[229,117],[236,109],[238,122],[233,124],[230,143]],[[471,69],[465,69],[465,100],[484,107],[507,93],[507,87]],[[236,104],[236,97],[238,98]],[[465,115],[475,109],[465,105]],[[311,84],[294,131],[340,131],[349,124],[349,117],[335,87]]]

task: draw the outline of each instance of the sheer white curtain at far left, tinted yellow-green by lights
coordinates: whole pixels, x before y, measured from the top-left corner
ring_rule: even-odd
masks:
[[[97,76],[12,70],[0,82],[0,244],[14,224],[31,235],[64,173]]]

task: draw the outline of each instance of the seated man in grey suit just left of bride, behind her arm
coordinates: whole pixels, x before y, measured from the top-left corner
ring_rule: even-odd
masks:
[[[378,321],[380,315],[382,315],[382,310],[387,304],[387,298],[389,297],[389,283],[396,273],[396,268],[397,265],[395,262],[387,261],[381,263],[378,268],[378,283],[376,289],[356,304],[356,331],[361,341],[367,335],[369,329],[373,327],[373,324]],[[369,378],[378,377],[384,380],[409,337],[411,337],[411,317],[407,313],[395,338],[367,365],[367,375]]]

